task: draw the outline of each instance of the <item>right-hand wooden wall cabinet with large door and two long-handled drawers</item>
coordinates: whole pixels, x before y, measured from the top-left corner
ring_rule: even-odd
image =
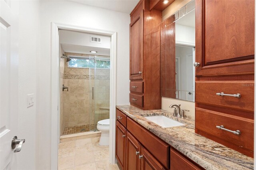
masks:
[[[254,154],[254,3],[196,0],[195,61],[200,64],[195,132],[250,157]]]

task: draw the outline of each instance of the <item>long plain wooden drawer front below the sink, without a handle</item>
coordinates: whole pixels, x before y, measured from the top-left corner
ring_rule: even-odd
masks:
[[[138,123],[135,123],[129,117],[127,118],[127,130],[133,134],[135,138],[140,141],[140,143],[147,148],[147,150],[159,160],[165,168],[169,169],[169,149],[170,146],[156,136],[148,132]]]

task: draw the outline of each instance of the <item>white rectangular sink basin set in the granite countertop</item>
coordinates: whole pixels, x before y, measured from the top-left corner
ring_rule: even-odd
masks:
[[[168,117],[165,117],[163,115],[159,116],[147,116],[146,119],[156,123],[157,125],[161,127],[178,127],[184,125],[183,123],[180,123],[178,121],[174,121]]]

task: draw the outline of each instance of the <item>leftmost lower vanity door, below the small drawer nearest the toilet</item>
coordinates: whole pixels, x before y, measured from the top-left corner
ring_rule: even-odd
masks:
[[[116,159],[120,163],[122,169],[125,169],[126,155],[126,128],[116,121]]]

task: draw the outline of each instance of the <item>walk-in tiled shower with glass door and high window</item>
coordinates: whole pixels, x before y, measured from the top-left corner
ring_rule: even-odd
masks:
[[[60,50],[60,135],[97,131],[110,115],[110,56]]]

